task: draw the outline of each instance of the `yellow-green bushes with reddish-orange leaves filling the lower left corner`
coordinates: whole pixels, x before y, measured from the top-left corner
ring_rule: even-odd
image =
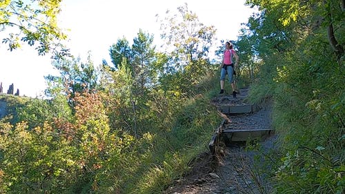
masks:
[[[126,148],[130,136],[117,135],[108,126],[100,98],[79,93],[72,122],[53,122],[28,128],[18,123],[1,126],[1,189],[6,193],[89,193],[104,162]],[[112,166],[114,167],[114,166]],[[119,169],[121,169],[119,167]]]

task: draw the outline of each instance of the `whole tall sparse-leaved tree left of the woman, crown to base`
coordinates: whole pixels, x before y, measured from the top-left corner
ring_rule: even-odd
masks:
[[[161,38],[169,57],[160,77],[164,91],[181,97],[190,93],[210,70],[208,53],[215,40],[215,27],[199,22],[197,14],[188,10],[187,3],[177,8],[177,14],[160,19]],[[157,17],[159,17],[157,15]]]

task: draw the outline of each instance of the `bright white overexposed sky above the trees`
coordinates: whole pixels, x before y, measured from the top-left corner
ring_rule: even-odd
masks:
[[[177,12],[179,6],[187,3],[188,10],[197,14],[199,22],[206,26],[215,26],[216,37],[235,40],[239,35],[241,23],[255,12],[244,5],[245,0],[63,0],[58,16],[60,28],[68,35],[67,46],[75,57],[86,61],[90,51],[95,65],[102,59],[110,62],[109,48],[118,39],[125,37],[130,44],[137,37],[139,29],[154,35],[154,41],[160,41],[160,23],[166,16],[166,10]],[[2,33],[2,32],[1,32]],[[3,34],[0,33],[2,41]],[[157,46],[158,48],[159,46]],[[46,89],[46,75],[58,75],[52,67],[50,55],[39,56],[33,47],[10,52],[8,46],[0,42],[0,82],[3,93],[10,84],[14,84],[14,93],[19,88],[20,95],[43,97]]]

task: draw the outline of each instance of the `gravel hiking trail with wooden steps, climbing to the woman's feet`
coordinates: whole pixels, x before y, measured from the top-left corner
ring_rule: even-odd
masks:
[[[262,152],[276,148],[277,135],[271,129],[273,103],[265,99],[247,104],[247,97],[248,89],[242,89],[237,98],[221,95],[212,99],[224,118],[210,142],[214,150],[210,146],[209,152],[193,159],[190,172],[175,180],[164,194],[269,193],[270,182],[255,170],[261,168],[255,157],[264,159]],[[248,149],[251,144],[259,144],[260,151]]]

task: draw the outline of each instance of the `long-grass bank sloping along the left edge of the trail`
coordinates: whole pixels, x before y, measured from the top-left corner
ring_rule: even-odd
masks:
[[[198,153],[207,149],[213,129],[219,123],[215,108],[201,95],[175,102],[156,127],[152,152],[143,164],[137,182],[131,181],[134,190],[129,193],[161,193],[177,177],[188,171],[188,163]],[[202,111],[201,111],[202,110]],[[163,116],[163,115],[162,115]],[[146,163],[147,162],[147,163]],[[132,188],[131,188],[132,189]]]

